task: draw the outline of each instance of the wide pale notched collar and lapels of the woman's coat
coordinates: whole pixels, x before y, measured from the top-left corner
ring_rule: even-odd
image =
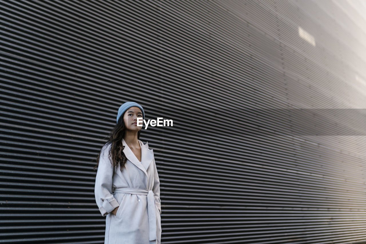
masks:
[[[128,160],[131,161],[131,163],[135,164],[136,167],[141,169],[146,175],[147,175],[147,168],[149,167],[150,163],[153,162],[154,159],[154,153],[153,149],[149,149],[149,145],[144,145],[142,141],[138,140],[141,146],[141,163],[136,158],[135,154],[132,152],[131,148],[128,147],[126,141],[122,138],[122,145],[124,146],[124,149],[122,152],[124,152],[124,155]]]

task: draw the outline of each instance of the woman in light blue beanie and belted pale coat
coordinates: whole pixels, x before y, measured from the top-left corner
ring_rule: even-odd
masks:
[[[160,181],[153,149],[138,140],[141,105],[119,107],[117,123],[97,156],[95,199],[105,221],[105,244],[160,244]]]

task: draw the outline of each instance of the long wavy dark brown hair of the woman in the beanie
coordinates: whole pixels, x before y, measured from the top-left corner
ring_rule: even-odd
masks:
[[[108,148],[108,145],[111,144],[111,147],[109,147],[109,152],[107,155],[111,155],[113,167],[117,169],[119,164],[121,171],[123,170],[124,164],[126,164],[127,161],[124,152],[122,152],[122,150],[124,149],[124,146],[122,145],[122,138],[124,137],[125,133],[126,133],[126,126],[124,125],[122,115],[118,120],[118,122],[116,123],[116,125],[111,130],[111,132],[109,133],[109,135],[105,137],[108,138],[108,141],[105,143],[105,145],[103,145],[103,147]],[[141,130],[137,132],[138,139],[140,138],[140,133]],[[94,166],[94,170],[99,165],[100,153],[101,151],[96,155],[97,165]]]

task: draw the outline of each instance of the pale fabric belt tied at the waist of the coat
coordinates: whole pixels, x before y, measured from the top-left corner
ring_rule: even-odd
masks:
[[[154,192],[142,188],[120,187],[114,193],[130,193],[136,195],[147,195],[147,217],[149,219],[149,241],[156,239],[156,209]]]

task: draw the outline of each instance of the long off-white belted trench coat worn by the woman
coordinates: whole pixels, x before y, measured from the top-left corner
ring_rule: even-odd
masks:
[[[141,163],[122,139],[126,168],[113,169],[111,145],[101,149],[95,180],[95,199],[105,219],[105,244],[160,244],[160,181],[153,149],[141,146]],[[118,207],[116,215],[112,214]]]

